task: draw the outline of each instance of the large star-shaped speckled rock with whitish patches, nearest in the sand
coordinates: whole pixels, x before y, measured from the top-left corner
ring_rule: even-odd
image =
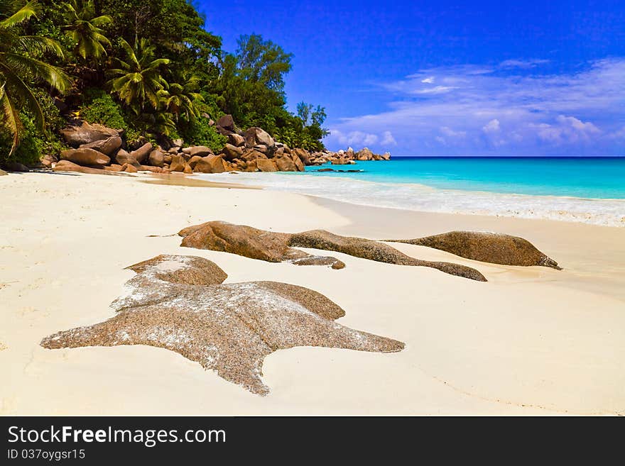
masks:
[[[335,323],[344,311],[312,289],[279,282],[222,284],[202,257],[160,255],[128,267],[136,276],[113,318],[41,341],[44,348],[149,345],[180,353],[229,382],[265,395],[263,359],[276,350],[323,346],[389,353],[404,344]]]

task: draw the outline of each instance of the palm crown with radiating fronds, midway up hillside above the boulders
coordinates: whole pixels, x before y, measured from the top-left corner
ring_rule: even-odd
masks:
[[[158,91],[168,88],[161,74],[161,67],[168,65],[168,58],[154,58],[154,47],[146,39],[135,43],[134,48],[121,39],[121,47],[126,52],[126,61],[115,58],[118,68],[110,70],[116,76],[109,81],[119,99],[138,115],[146,105],[157,109],[161,101]]]

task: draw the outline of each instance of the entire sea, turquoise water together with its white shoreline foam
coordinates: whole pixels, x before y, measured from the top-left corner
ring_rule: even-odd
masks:
[[[354,204],[625,226],[625,157],[395,157],[200,176]]]

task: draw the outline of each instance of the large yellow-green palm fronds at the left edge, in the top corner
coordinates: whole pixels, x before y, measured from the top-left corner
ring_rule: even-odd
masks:
[[[62,57],[58,43],[37,35],[19,34],[20,26],[36,18],[40,11],[36,0],[0,3],[0,119],[3,128],[13,138],[9,155],[20,142],[23,128],[19,116],[21,108],[31,111],[40,131],[45,130],[43,111],[29,84],[39,79],[60,92],[70,85],[67,74],[39,60],[45,52]]]

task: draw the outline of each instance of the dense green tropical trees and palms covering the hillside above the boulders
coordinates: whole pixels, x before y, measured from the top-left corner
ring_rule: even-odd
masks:
[[[219,149],[214,121],[229,113],[321,150],[325,109],[286,106],[293,55],[255,34],[225,52],[204,27],[188,0],[3,0],[0,163],[58,152],[74,118],[124,130],[131,148],[184,138]]]

